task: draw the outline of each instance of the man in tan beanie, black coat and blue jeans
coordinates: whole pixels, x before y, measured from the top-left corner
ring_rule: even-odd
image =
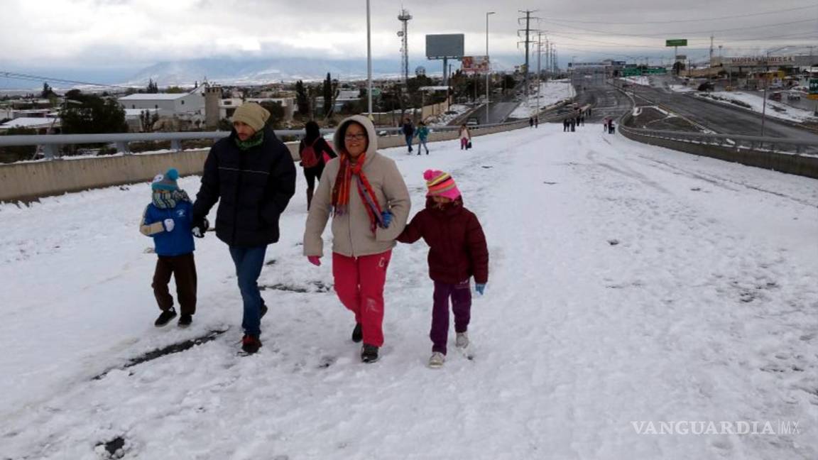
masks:
[[[193,232],[204,237],[205,216],[221,201],[216,236],[230,246],[236,264],[244,318],[241,348],[261,346],[261,317],[267,307],[258,291],[258,276],[267,245],[278,241],[278,219],[295,193],[295,165],[290,151],[265,128],[270,112],[249,102],[236,109],[233,131],[210,149],[201,187],[193,204]]]

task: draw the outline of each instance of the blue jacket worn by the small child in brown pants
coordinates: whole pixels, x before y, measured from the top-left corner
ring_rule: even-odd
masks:
[[[173,231],[165,231],[164,219],[173,219]],[[157,255],[190,254],[196,249],[191,233],[192,221],[193,205],[190,201],[182,201],[168,210],[151,203],[145,208],[140,231],[153,237]]]

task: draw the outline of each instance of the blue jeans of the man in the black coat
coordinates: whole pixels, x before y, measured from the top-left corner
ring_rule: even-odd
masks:
[[[264,266],[264,255],[267,246],[237,247],[230,246],[233,264],[236,264],[236,277],[239,278],[241,300],[245,304],[245,316],[241,327],[250,336],[261,335],[261,305],[264,301],[258,291],[258,275]]]

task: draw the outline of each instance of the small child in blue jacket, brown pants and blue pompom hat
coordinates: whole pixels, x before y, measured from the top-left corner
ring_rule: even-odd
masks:
[[[151,183],[153,200],[145,208],[139,227],[143,235],[153,237],[159,256],[151,285],[156,303],[162,310],[154,322],[156,327],[164,326],[176,317],[173,296],[168,290],[171,275],[176,280],[176,295],[182,309],[178,325],[190,326],[193,313],[196,313],[196,262],[193,259],[196,248],[191,231],[193,204],[187,193],[178,187],[178,178],[179,172],[173,168],[154,178]]]

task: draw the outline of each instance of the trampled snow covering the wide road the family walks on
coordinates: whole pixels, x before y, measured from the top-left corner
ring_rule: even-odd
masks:
[[[145,459],[818,458],[816,180],[555,124],[430,147],[384,150],[412,214],[423,170],[450,171],[491,252],[475,358],[452,350],[438,370],[426,246],[394,251],[382,359],[360,363],[352,315],[321,287],[329,257],[301,256],[300,174],[250,357],[212,234],[193,325],[153,327],[147,183],[0,206],[0,458],[91,460],[116,438]],[[728,432],[744,422],[765,433]]]

